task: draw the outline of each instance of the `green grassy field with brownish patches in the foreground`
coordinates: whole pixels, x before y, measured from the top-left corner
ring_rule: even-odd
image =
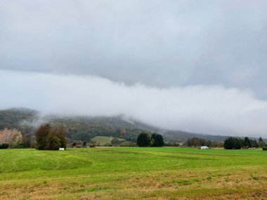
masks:
[[[0,149],[0,199],[267,199],[267,152]]]

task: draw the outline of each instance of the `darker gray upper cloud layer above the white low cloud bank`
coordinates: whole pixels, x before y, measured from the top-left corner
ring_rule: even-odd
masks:
[[[0,0],[0,69],[267,99],[267,1]]]

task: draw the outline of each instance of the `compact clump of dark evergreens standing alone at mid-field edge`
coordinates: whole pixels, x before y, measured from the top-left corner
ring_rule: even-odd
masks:
[[[136,140],[138,147],[163,147],[164,140],[162,135],[157,133],[141,133]]]

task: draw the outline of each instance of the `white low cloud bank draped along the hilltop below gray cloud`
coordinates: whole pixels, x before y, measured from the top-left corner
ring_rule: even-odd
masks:
[[[152,88],[98,76],[0,70],[0,109],[42,114],[117,116],[171,130],[267,136],[267,102],[222,85]]]

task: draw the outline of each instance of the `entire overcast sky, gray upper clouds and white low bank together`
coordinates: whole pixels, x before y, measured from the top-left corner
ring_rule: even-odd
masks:
[[[0,0],[0,109],[267,136],[267,1]]]

